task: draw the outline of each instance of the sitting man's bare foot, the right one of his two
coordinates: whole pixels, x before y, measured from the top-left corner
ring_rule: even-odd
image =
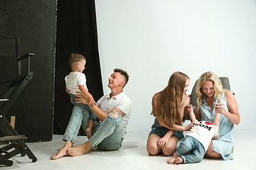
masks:
[[[92,145],[90,145],[90,142],[87,141],[84,144],[79,145],[78,147],[71,147],[67,151],[70,156],[76,157],[82,154],[87,154],[91,148],[92,148]]]

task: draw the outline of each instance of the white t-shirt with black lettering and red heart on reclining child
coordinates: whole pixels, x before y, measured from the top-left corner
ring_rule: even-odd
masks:
[[[196,123],[197,125],[195,125],[186,136],[191,136],[201,142],[205,151],[207,151],[210,141],[218,134],[219,126],[215,126],[204,120],[201,120],[200,122],[196,120]]]

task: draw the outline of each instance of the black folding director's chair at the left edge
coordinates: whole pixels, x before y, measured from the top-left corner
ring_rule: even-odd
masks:
[[[21,91],[23,91],[26,84],[28,84],[33,77],[33,72],[30,71],[30,57],[32,56],[32,53],[19,56],[19,38],[0,37],[0,57],[4,57],[4,60],[15,57],[16,65],[11,65],[11,67],[15,67],[18,71],[17,76],[14,79],[0,82],[0,84],[8,85],[4,95],[0,98],[0,130],[4,134],[4,137],[0,137],[0,142],[9,142],[9,145],[0,149],[0,164],[6,166],[14,164],[14,162],[9,159],[17,154],[21,154],[21,157],[27,155],[29,159],[32,159],[32,162],[37,161],[35,155],[31,152],[25,142],[23,142],[24,140],[27,140],[27,137],[25,135],[18,135],[5,117],[10,108],[14,107],[14,103],[21,94]],[[26,72],[21,74],[21,61],[24,60],[27,61]]]

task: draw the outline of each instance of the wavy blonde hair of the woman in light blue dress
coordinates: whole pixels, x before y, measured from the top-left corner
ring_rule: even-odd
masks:
[[[206,81],[213,82],[213,88],[215,89],[215,94],[213,95],[213,98],[220,98],[220,94],[222,94],[223,91],[225,91],[225,89],[223,89],[220,79],[214,72],[203,73],[200,79],[198,80],[198,85],[196,87],[196,95],[198,96],[196,100],[196,107],[197,107],[196,112],[200,110],[201,104],[203,102],[203,97],[204,97],[203,84]]]

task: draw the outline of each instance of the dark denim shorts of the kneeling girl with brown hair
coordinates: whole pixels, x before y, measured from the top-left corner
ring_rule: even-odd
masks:
[[[159,135],[159,137],[164,137],[164,135],[166,135],[166,133],[168,132],[169,129],[164,128],[163,126],[160,125],[159,121],[157,119],[155,119],[154,124],[151,126],[151,132],[149,132],[149,135],[151,134],[156,134]],[[178,137],[178,139],[183,139],[184,135],[183,135],[183,131],[175,131],[174,135]]]

